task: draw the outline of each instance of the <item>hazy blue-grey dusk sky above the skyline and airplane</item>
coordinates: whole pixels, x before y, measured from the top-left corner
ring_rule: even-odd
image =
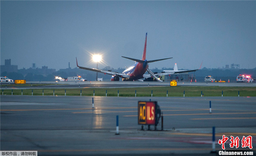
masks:
[[[256,1],[0,1],[1,65],[18,69],[133,65],[147,35],[149,68],[256,67]]]

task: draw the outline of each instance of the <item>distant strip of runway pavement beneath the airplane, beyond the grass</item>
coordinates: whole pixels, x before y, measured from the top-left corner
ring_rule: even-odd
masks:
[[[35,84],[47,84],[43,86],[35,86]],[[1,83],[1,87],[5,88],[5,84]],[[148,82],[148,81],[47,81],[47,82],[27,82],[31,86],[19,87],[12,83],[5,89],[42,89],[42,88],[127,88],[127,87],[153,87],[153,86],[170,86],[170,82]],[[52,85],[49,85],[52,84]],[[220,83],[220,82],[177,82],[178,86],[228,86],[228,87],[256,87],[256,83]]]

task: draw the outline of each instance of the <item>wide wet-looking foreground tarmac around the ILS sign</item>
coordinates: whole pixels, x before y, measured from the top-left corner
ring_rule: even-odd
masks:
[[[256,97],[94,97],[1,95],[1,151],[38,155],[209,155],[222,138],[252,136]],[[157,101],[163,128],[140,130],[138,101]],[[209,113],[211,101],[212,113]],[[116,133],[116,115],[119,133]],[[230,143],[230,142],[229,142]],[[234,148],[225,144],[226,150]],[[216,144],[220,150],[221,145]],[[255,152],[255,151],[254,151]],[[212,154],[215,155],[215,154]]]

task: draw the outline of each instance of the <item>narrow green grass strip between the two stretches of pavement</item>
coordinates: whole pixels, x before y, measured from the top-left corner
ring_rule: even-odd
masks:
[[[66,88],[66,89],[33,89],[33,95],[66,95],[67,96],[80,96],[82,91],[82,96],[176,96],[176,97],[191,97],[191,96],[201,96],[201,91],[203,96],[256,96],[256,87],[212,87],[212,86],[176,86],[176,87],[138,87],[138,88]],[[32,89],[26,90],[1,90],[1,95],[32,95]]]

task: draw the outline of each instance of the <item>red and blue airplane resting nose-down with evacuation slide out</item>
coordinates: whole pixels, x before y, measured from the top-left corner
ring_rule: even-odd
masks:
[[[142,59],[138,60],[138,59],[135,59],[135,58],[129,58],[129,57],[122,56],[124,58],[129,59],[129,60],[135,61],[134,65],[125,69],[122,73],[112,72],[110,70],[109,71],[103,71],[101,69],[82,67],[82,66],[78,65],[77,58],[76,58],[76,66],[80,69],[85,69],[85,70],[89,70],[89,71],[101,72],[101,73],[104,73],[104,74],[112,75],[111,81],[119,81],[120,77],[123,79],[123,81],[143,81],[143,80],[141,80],[143,78],[145,78],[145,80],[147,78],[151,78],[150,80],[155,79],[156,81],[162,81],[162,80],[159,80],[157,76],[170,75],[170,74],[175,74],[175,73],[193,72],[193,71],[199,70],[199,69],[195,69],[195,70],[190,70],[190,71],[153,73],[152,71],[150,71],[148,69],[148,64],[149,63],[156,62],[156,61],[167,60],[167,59],[170,59],[172,57],[147,61],[146,60],[146,47],[147,47],[147,33],[146,33],[146,38],[145,38],[145,44],[144,44]],[[148,72],[148,74],[145,74],[146,71]]]

